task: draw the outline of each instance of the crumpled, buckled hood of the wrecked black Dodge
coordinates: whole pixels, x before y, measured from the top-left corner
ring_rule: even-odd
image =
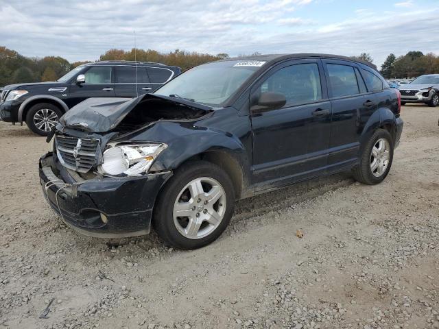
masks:
[[[145,94],[134,99],[115,97],[88,98],[67,111],[61,117],[57,128],[62,130],[63,127],[76,127],[88,132],[108,132],[114,129],[138,103],[148,98],[166,99],[174,103],[191,106],[192,108],[211,110],[209,106],[193,103],[185,99],[154,94]]]

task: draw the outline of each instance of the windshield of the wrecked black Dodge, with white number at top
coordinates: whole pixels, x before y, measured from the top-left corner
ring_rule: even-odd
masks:
[[[196,66],[169,81],[154,94],[218,106],[233,95],[265,62],[228,60]]]

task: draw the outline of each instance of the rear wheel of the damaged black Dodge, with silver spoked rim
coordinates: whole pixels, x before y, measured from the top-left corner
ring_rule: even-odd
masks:
[[[383,142],[387,153],[385,151],[382,151],[382,153],[381,151],[377,152],[377,146],[379,147],[381,142]],[[375,155],[372,154],[372,149]],[[393,151],[394,145],[389,132],[383,129],[377,130],[366,145],[361,148],[359,166],[353,169],[355,180],[369,185],[381,183],[388,175],[390,167],[392,167]],[[377,162],[374,162],[375,160]],[[372,170],[375,165],[377,167]]]

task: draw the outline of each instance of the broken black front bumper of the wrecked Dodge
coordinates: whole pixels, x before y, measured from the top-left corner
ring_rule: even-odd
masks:
[[[168,171],[74,182],[58,166],[51,153],[40,158],[40,183],[47,202],[71,228],[104,238],[148,234],[158,192],[172,175]]]

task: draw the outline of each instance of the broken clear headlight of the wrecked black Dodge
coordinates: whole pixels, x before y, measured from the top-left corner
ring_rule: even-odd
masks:
[[[99,172],[107,175],[137,176],[147,173],[166,144],[114,145],[104,151]]]

